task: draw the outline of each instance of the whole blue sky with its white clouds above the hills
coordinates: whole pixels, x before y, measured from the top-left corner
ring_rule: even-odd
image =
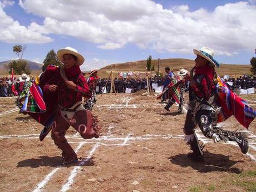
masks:
[[[56,1],[41,2],[47,2],[46,9],[51,7],[48,12],[38,11],[40,5],[35,1],[1,1],[0,19],[10,22],[0,22],[4,31],[0,32],[0,61],[17,57],[14,45],[26,45],[23,58],[39,62],[51,49],[76,48],[86,58],[85,70],[145,60],[149,55],[194,59],[193,48],[201,46],[213,48],[216,60],[222,63],[249,64],[255,57],[255,1],[143,0],[141,5],[138,1],[111,5],[112,1],[105,0],[111,6],[109,11],[97,2],[71,1],[56,7]],[[66,7],[70,14],[81,8],[81,16],[70,18]]]

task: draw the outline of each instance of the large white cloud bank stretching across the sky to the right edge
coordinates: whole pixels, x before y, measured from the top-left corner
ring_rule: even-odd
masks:
[[[209,46],[216,54],[230,56],[255,48],[253,2],[228,3],[212,12],[189,11],[188,5],[164,9],[150,0],[19,0],[19,5],[45,18],[42,25],[33,22],[27,27],[42,38],[51,33],[72,36],[107,50],[135,44],[159,52],[191,53]]]

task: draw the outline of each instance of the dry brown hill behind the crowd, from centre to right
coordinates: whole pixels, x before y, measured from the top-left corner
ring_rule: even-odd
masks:
[[[186,70],[191,70],[194,66],[194,60],[188,60],[184,58],[168,58],[160,60],[160,72],[164,72],[164,68],[169,66],[171,71],[178,72],[181,68],[185,68]],[[155,66],[155,71],[157,71],[158,60],[152,60],[151,66]],[[233,75],[239,76],[244,73],[250,74],[250,65],[230,65],[230,64],[222,64],[218,68],[218,73],[220,76],[223,75]],[[106,67],[102,67],[99,70],[100,77],[109,77],[110,73],[106,73],[106,71],[145,71],[146,70],[146,60],[135,61],[135,62],[126,62],[126,63],[116,63],[111,64]]]

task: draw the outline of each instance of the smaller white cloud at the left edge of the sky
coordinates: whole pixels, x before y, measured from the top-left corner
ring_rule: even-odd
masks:
[[[5,4],[4,4],[5,3]],[[3,8],[12,5],[12,1],[0,2],[0,41],[7,43],[48,43],[52,38],[42,35],[40,32],[29,30],[21,26],[18,21],[7,16]]]

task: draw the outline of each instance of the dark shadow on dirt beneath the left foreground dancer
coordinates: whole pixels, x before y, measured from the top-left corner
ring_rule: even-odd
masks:
[[[93,157],[89,159],[82,159],[80,160],[80,163],[71,163],[64,165],[65,167],[70,166],[91,166],[95,164],[95,161],[93,161]],[[50,166],[50,167],[57,167],[62,166],[62,157],[61,156],[55,156],[55,157],[49,157],[49,156],[40,156],[39,159],[26,159],[23,161],[19,161],[17,164],[17,168],[22,167],[31,167],[31,168],[38,168],[40,166]]]

